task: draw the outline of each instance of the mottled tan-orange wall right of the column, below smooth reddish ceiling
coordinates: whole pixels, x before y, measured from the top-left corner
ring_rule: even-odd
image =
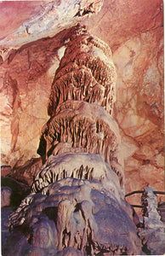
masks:
[[[164,190],[162,34],[161,27],[141,33],[113,55],[117,67],[114,113],[122,136],[127,192],[147,183]],[[137,200],[133,196],[129,202]]]

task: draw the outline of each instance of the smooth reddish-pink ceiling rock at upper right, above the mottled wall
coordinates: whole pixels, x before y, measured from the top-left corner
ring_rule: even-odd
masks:
[[[112,52],[130,38],[163,26],[162,0],[105,0],[100,13],[83,20],[88,32],[109,44]],[[162,27],[163,30],[163,27]]]

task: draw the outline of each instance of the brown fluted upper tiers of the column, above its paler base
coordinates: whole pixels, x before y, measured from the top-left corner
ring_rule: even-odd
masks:
[[[117,123],[112,117],[117,74],[111,49],[85,28],[75,27],[60,61],[48,102],[50,119],[37,153],[100,154],[123,189],[123,160]]]

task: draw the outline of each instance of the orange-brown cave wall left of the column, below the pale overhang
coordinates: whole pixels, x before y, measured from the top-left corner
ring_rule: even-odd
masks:
[[[37,144],[48,119],[48,96],[60,47],[60,38],[42,40],[20,49],[12,61],[1,66],[3,165],[16,168],[38,157]]]

